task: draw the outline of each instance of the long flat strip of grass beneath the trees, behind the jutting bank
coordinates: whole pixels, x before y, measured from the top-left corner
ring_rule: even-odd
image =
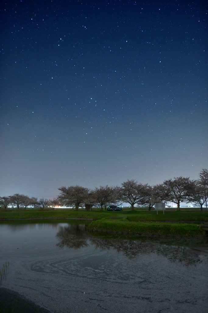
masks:
[[[7,210],[0,212],[0,220],[27,218],[110,218],[125,217],[129,222],[208,222],[208,212],[174,211],[72,211],[72,210]]]

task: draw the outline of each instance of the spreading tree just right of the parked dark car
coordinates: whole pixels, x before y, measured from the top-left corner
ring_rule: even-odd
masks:
[[[131,209],[134,209],[136,203],[142,204],[145,199],[145,191],[148,184],[140,184],[135,179],[127,180],[121,184],[119,190],[119,199],[125,203],[131,204]]]

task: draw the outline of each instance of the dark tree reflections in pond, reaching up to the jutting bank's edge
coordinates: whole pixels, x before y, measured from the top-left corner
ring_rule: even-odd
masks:
[[[113,236],[100,233],[88,233],[84,225],[61,226],[56,238],[59,240],[58,247],[81,249],[89,245],[96,249],[115,251],[123,254],[128,259],[140,255],[156,253],[158,256],[165,256],[170,261],[179,261],[182,264],[190,265],[206,260],[208,244],[205,240],[187,241],[159,238],[133,237],[128,239],[121,235]],[[124,239],[125,238],[125,239]]]

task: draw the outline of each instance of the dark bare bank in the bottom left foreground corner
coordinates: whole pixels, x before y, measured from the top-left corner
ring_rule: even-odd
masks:
[[[49,310],[6,288],[0,288],[0,305],[0,313],[50,313]]]

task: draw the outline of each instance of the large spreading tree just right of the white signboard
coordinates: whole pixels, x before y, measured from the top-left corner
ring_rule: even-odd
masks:
[[[177,204],[177,210],[180,210],[180,203],[188,203],[190,196],[194,193],[194,180],[189,177],[173,177],[160,185],[160,196],[164,201],[170,201]]]

